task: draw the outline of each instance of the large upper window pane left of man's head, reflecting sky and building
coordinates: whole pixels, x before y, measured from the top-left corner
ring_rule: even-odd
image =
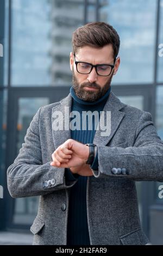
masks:
[[[12,1],[12,86],[71,85],[73,31],[84,1]]]

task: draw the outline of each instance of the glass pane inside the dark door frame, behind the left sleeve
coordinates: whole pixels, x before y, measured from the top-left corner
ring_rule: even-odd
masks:
[[[17,121],[17,154],[24,142],[30,121],[39,107],[48,105],[48,98],[21,98],[18,101],[18,121]],[[28,106],[28,108],[27,108]],[[14,223],[31,224],[37,213],[39,197],[16,198]]]

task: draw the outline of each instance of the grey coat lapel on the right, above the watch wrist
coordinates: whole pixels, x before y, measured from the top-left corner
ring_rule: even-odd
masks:
[[[114,136],[116,130],[118,129],[118,126],[120,125],[124,113],[120,111],[121,108],[123,108],[124,105],[116,96],[114,93],[110,93],[108,101],[106,101],[106,104],[104,106],[103,111],[110,111],[111,112],[111,132],[109,136],[101,136],[101,127],[99,125],[99,130],[96,131],[95,137],[93,139],[93,143],[97,145],[106,145],[109,143],[111,138]],[[106,115],[104,117],[105,124],[106,124]]]

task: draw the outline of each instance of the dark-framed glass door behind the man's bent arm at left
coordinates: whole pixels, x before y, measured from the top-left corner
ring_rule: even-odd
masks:
[[[68,94],[69,88],[11,89],[8,109],[8,166],[14,162],[26,136],[27,129],[37,110],[57,102]],[[12,199],[8,194],[7,214],[9,228],[27,229],[36,214],[39,197]]]

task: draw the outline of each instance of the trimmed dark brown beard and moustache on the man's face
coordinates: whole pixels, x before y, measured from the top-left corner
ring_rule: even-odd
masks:
[[[79,85],[78,80],[76,75],[74,74],[74,70],[72,71],[72,75],[73,75],[73,88],[74,88],[74,92],[76,93],[77,97],[79,97],[79,99],[84,100],[84,101],[97,101],[99,98],[101,98],[103,95],[105,95],[105,93],[108,91],[110,84],[111,84],[111,80],[112,80],[112,75],[109,77],[108,81],[104,84],[103,88],[101,88],[99,86],[99,84],[97,83],[90,83],[85,82]],[[96,92],[92,92],[92,91],[86,91],[84,90],[84,87],[91,87],[91,88],[97,88],[98,90],[96,90]]]

